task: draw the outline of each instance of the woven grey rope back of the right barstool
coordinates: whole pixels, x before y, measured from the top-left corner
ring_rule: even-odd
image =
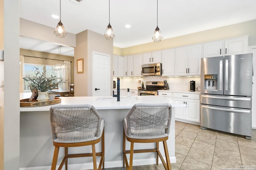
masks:
[[[135,104],[126,117],[127,135],[137,139],[166,137],[171,117],[171,104]]]

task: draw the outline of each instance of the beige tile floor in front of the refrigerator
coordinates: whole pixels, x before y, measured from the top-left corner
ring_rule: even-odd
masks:
[[[175,156],[172,170],[223,170],[256,166],[256,130],[252,140],[211,130],[198,125],[175,122]],[[161,161],[160,161],[161,162]],[[256,167],[247,167],[256,170]],[[126,168],[105,168],[125,170]],[[162,164],[134,166],[133,170],[164,170]]]

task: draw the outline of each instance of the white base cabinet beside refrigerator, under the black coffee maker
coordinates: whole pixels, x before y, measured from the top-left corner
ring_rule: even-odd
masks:
[[[173,99],[187,105],[175,108],[175,118],[200,122],[200,94],[173,93]]]

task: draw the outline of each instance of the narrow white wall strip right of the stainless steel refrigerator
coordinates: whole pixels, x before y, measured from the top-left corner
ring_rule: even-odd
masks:
[[[254,76],[252,77],[252,129],[256,129],[256,45],[249,46],[249,53],[253,53]]]

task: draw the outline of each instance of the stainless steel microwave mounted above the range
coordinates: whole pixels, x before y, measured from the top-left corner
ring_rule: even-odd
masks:
[[[162,63],[143,64],[142,75],[143,76],[162,75]]]

